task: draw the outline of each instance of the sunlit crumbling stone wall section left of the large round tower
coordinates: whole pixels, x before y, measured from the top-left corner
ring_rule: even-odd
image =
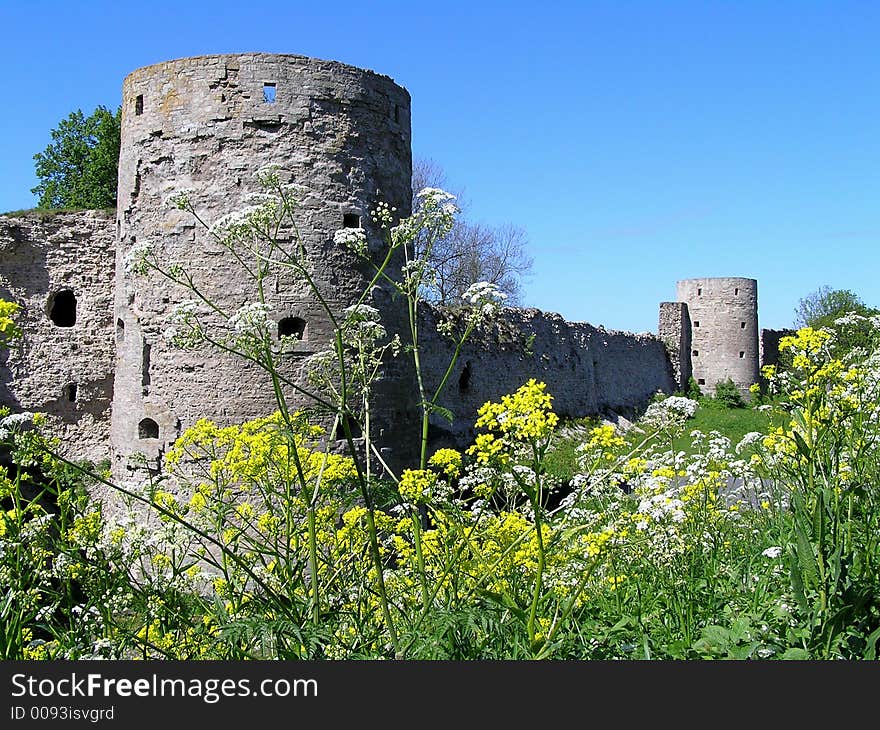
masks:
[[[46,413],[73,459],[109,457],[114,251],[112,212],[0,216],[0,297],[24,331],[0,353],[0,404]]]

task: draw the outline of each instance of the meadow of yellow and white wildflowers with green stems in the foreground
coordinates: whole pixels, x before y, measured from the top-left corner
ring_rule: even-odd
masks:
[[[267,194],[211,230],[237,257],[258,254],[257,284],[278,262],[308,278],[302,251],[272,235],[292,213],[289,189],[279,171],[261,174]],[[791,365],[768,370],[752,400],[773,426],[738,443],[693,432],[689,455],[669,445],[697,403],[673,395],[650,405],[636,439],[598,425],[576,472],[551,475],[560,424],[535,379],[482,406],[468,448],[432,452],[445,381],[423,382],[415,323],[431,285],[424,253],[455,208],[439,190],[419,200],[403,221],[377,207],[378,258],[339,236],[376,277],[402,256],[394,285],[411,329],[386,332],[364,302],[329,313],[336,340],[298,386],[323,404],[320,424],[287,407],[282,383],[275,413],[201,420],[160,474],[115,483],[58,457],[40,414],[0,416],[3,657],[876,658],[880,355],[841,355],[833,330],[798,331],[781,343]],[[190,209],[186,196],[174,203]],[[130,263],[192,283],[161,252]],[[199,319],[196,292],[169,339],[277,376],[283,343],[255,291],[222,332]],[[474,287],[448,336],[460,347],[502,301]],[[15,314],[0,302],[4,346]],[[378,449],[351,427],[369,434],[371,384],[390,357],[412,359],[423,408],[421,457],[400,474],[373,468]],[[344,453],[330,449],[340,440]],[[90,497],[98,486],[112,509]]]

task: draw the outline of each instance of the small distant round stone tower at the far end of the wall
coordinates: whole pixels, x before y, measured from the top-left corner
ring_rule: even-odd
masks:
[[[758,282],[719,277],[677,282],[677,298],[687,304],[691,325],[693,376],[706,393],[730,378],[748,395],[757,383]]]

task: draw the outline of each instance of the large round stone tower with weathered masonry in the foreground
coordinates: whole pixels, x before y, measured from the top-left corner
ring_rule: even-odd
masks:
[[[335,231],[363,228],[378,257],[382,239],[370,211],[380,201],[400,216],[410,211],[409,93],[372,71],[294,55],[199,56],[126,77],[111,426],[117,472],[136,452],[158,464],[198,418],[225,424],[276,408],[259,368],[213,348],[183,351],[166,342],[176,307],[192,293],[126,266],[132,250],[146,244],[164,266],[182,266],[227,316],[255,301],[252,277],[168,198],[188,190],[210,224],[262,191],[256,173],[267,165],[279,166],[282,181],[296,190],[296,230],[281,231],[281,240],[290,247],[301,241],[322,298],[341,311],[357,300],[371,271],[334,243]],[[300,275],[276,269],[263,285],[280,334],[298,338],[285,361],[296,380],[304,359],[329,343],[330,318]],[[394,331],[390,296],[377,289],[368,301],[384,307],[392,319],[384,323]],[[398,399],[387,406],[394,407],[404,406]],[[376,414],[389,424],[396,415]]]

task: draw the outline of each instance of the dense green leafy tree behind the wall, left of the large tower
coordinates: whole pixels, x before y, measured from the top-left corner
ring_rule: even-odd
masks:
[[[52,144],[34,155],[39,208],[112,208],[119,172],[122,107],[114,114],[99,106],[86,117],[81,110],[53,129]]]

